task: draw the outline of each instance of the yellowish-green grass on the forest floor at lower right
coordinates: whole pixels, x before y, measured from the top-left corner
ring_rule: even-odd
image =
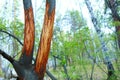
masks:
[[[117,65],[113,62],[115,66],[115,75],[118,76],[118,80],[120,80],[120,71],[117,69]],[[99,67],[100,66],[100,67]],[[93,73],[93,80],[106,80],[107,79],[107,68],[106,65],[103,63],[99,63],[99,66],[95,64],[94,66],[94,73]],[[102,68],[102,69],[101,69]],[[71,80],[90,80],[92,65],[90,62],[84,64],[70,64],[67,66],[68,75],[70,76]],[[58,80],[66,80],[66,74],[61,66],[58,66],[56,70],[50,68],[50,72],[58,79]],[[113,79],[114,80],[114,79]]]

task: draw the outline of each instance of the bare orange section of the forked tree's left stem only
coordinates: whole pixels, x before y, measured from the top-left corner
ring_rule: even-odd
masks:
[[[35,37],[35,28],[34,28],[34,17],[33,9],[30,7],[25,10],[25,29],[24,29],[24,45],[22,52],[27,56],[33,53],[34,48],[34,37]]]

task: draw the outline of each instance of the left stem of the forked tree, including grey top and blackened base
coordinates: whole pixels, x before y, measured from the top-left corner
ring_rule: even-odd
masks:
[[[24,28],[24,44],[20,62],[22,64],[28,65],[32,63],[35,27],[31,0],[23,0],[23,3],[25,14],[25,28]]]

